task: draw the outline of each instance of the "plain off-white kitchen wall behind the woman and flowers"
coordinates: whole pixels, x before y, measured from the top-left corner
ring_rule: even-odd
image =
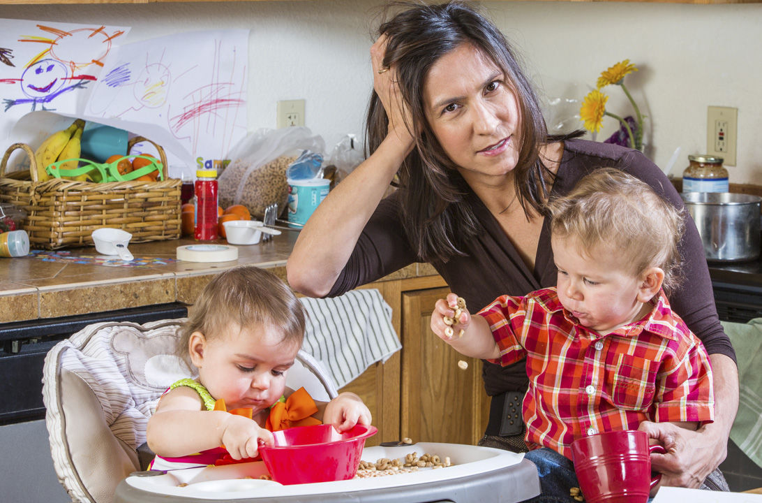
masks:
[[[0,18],[133,27],[129,41],[221,27],[251,30],[249,130],[275,127],[276,102],[306,98],[306,125],[328,147],[361,136],[371,86],[368,49],[378,0],[149,5],[0,5]],[[626,83],[648,114],[646,153],[680,176],[688,153],[706,151],[706,107],[738,108],[732,182],[762,180],[762,4],[483,2],[516,44],[543,94],[581,99],[597,76],[629,59]],[[610,93],[609,109],[628,114]],[[577,108],[573,105],[571,110]],[[604,119],[603,140],[616,129]]]

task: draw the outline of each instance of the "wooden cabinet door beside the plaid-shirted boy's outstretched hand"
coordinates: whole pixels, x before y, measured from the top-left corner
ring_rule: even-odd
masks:
[[[402,293],[402,437],[475,444],[488,418],[482,363],[431,332],[431,311],[450,289]],[[458,366],[460,360],[467,369]]]

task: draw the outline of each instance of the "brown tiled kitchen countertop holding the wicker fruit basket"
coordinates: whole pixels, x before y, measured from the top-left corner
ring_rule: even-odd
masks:
[[[238,247],[231,262],[194,263],[176,260],[177,247],[192,238],[130,243],[140,265],[103,265],[94,247],[38,250],[18,258],[0,258],[0,323],[114,311],[144,305],[192,304],[203,286],[220,270],[254,265],[286,280],[286,260],[298,234],[283,231],[267,243]],[[216,243],[226,244],[225,240]],[[33,250],[34,252],[34,250]],[[427,264],[413,264],[385,279],[436,274]]]

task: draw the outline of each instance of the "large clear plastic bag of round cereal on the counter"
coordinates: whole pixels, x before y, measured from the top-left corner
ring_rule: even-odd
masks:
[[[303,150],[325,152],[325,140],[309,127],[258,129],[248,134],[228,154],[230,161],[219,176],[219,205],[244,205],[255,218],[277,203],[286,209],[286,170]]]

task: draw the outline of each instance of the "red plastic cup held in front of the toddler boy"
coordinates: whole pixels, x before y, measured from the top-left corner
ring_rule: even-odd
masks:
[[[651,471],[651,453],[665,453],[648,445],[643,431],[606,431],[571,443],[575,472],[588,503],[645,503],[661,480]]]

